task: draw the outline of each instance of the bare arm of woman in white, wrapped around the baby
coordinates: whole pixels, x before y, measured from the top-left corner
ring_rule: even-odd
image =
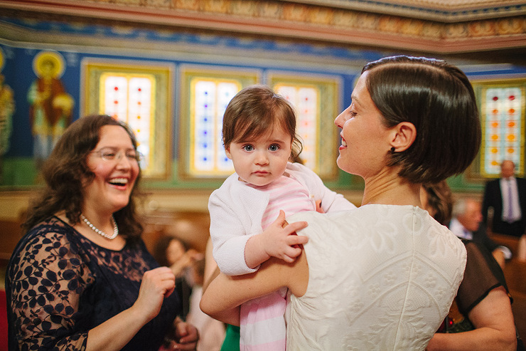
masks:
[[[255,273],[243,276],[226,276],[219,273],[212,277],[208,287],[203,288],[200,308],[211,317],[232,324],[232,313],[242,303],[252,298],[267,295],[281,287],[301,297],[308,284],[308,265],[305,253],[293,263],[285,263],[279,258],[270,258]],[[239,311],[237,311],[239,324]]]

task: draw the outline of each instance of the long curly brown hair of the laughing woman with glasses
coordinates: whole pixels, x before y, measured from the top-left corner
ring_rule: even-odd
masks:
[[[68,220],[77,224],[82,211],[82,184],[92,182],[95,174],[87,167],[87,155],[95,149],[100,140],[100,128],[104,125],[117,125],[128,133],[134,149],[137,141],[132,130],[124,122],[108,115],[90,115],[73,122],[53,148],[50,157],[43,164],[42,175],[45,189],[31,209],[23,223],[24,231],[53,216],[58,211],[65,211]],[[130,194],[129,203],[114,213],[114,219],[123,236],[133,239],[142,233],[135,209],[137,186],[141,178],[141,169]]]

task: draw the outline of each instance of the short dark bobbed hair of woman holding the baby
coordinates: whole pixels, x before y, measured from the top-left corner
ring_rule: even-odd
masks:
[[[436,183],[463,172],[481,145],[473,88],[458,68],[440,60],[393,56],[367,63],[367,90],[387,127],[411,122],[411,147],[390,154],[389,166],[413,183]]]

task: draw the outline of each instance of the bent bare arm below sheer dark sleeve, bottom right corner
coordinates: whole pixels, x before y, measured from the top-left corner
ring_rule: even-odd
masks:
[[[515,322],[510,298],[500,286],[478,303],[468,314],[475,330],[456,333],[436,333],[426,350],[513,350],[517,349]]]

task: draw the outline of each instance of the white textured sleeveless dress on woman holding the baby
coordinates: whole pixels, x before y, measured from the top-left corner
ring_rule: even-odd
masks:
[[[415,206],[370,204],[318,214],[299,235],[308,287],[290,295],[287,351],[424,350],[449,312],[466,249]]]

